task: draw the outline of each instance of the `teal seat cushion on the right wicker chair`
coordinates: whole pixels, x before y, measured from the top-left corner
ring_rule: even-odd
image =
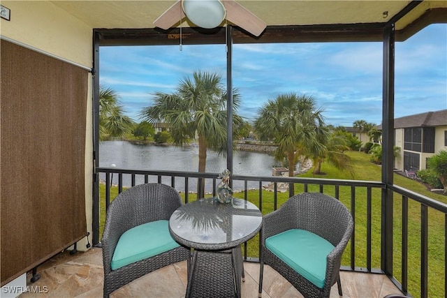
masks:
[[[293,229],[269,237],[265,247],[308,281],[323,288],[326,257],[335,248],[328,240],[306,230]]]

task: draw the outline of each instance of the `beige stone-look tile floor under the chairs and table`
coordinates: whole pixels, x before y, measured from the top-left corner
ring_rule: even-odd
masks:
[[[242,297],[258,297],[259,264],[245,262]],[[47,293],[23,293],[20,298],[94,298],[103,297],[103,265],[101,248],[70,255],[59,253],[38,267],[41,278],[28,285],[47,287]],[[28,280],[31,274],[28,276]],[[382,274],[341,272],[345,298],[383,298],[400,291]],[[138,278],[110,295],[111,298],[181,298],[186,291],[186,262],[164,267]],[[268,266],[264,269],[263,297],[302,297],[298,290]],[[334,285],[330,297],[339,297]],[[210,297],[207,297],[210,298]]]

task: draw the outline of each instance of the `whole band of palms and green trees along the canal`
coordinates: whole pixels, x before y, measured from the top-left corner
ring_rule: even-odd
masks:
[[[100,87],[100,139],[123,137],[133,134],[144,140],[172,142],[182,146],[195,140],[198,142],[198,172],[205,172],[207,150],[220,154],[227,150],[227,93],[222,77],[207,71],[194,72],[179,82],[172,93],[155,92],[149,105],[140,112],[140,124],[124,114],[119,95],[110,87]],[[321,163],[326,161],[354,177],[351,158],[344,154],[348,150],[359,150],[362,141],[346,132],[343,126],[326,124],[323,109],[316,106],[316,99],[306,94],[290,92],[279,94],[263,104],[254,121],[247,121],[238,114],[241,95],[233,89],[233,139],[241,137],[273,142],[276,161],[288,167],[293,177],[296,163],[303,156],[312,160],[314,174],[320,174]],[[166,124],[168,130],[155,133],[154,124]],[[367,133],[369,142],[365,151],[371,151],[372,161],[381,163],[381,146],[372,144],[379,140],[381,131],[375,124],[365,120],[354,121],[359,133]],[[399,154],[399,149],[395,149]],[[447,156],[447,152],[446,152]],[[447,186],[447,157],[441,156],[440,177]],[[445,168],[444,168],[445,167]],[[445,171],[445,172],[443,172]],[[443,174],[444,173],[444,174]],[[444,175],[444,176],[443,176]],[[198,183],[198,193],[202,186]]]

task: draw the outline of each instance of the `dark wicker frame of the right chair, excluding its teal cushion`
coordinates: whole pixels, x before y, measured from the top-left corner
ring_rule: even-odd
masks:
[[[313,232],[335,246],[327,258],[323,288],[298,274],[265,247],[265,239],[291,229]],[[277,211],[264,216],[261,230],[261,272],[259,297],[262,293],[263,265],[284,276],[304,297],[329,297],[330,288],[338,282],[339,295],[342,287],[339,268],[342,253],[353,231],[353,218],[349,210],[335,198],[323,193],[301,193],[289,198]]]

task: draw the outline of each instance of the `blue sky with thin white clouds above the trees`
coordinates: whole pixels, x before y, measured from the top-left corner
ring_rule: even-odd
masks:
[[[233,45],[238,113],[251,120],[279,94],[314,96],[327,124],[381,123],[382,43]],[[226,83],[225,45],[101,47],[100,83],[117,91],[126,114],[171,93],[193,71],[218,73]],[[395,117],[447,109],[447,24],[432,24],[395,46]]]

